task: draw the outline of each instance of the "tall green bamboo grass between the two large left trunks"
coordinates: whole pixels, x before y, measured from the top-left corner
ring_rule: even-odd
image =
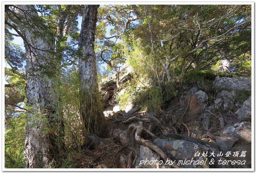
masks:
[[[81,146],[87,142],[87,132],[80,115],[80,80],[76,66],[63,68],[59,80],[55,83],[55,94],[59,98],[58,112],[64,124],[63,140],[69,151],[81,151]]]

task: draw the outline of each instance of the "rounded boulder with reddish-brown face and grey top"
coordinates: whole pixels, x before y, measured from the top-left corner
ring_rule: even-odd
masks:
[[[194,88],[194,87],[193,87]],[[208,100],[208,96],[205,92],[198,90],[192,91],[192,95],[189,102],[190,112],[194,115],[199,114],[199,112],[205,108],[206,101]]]

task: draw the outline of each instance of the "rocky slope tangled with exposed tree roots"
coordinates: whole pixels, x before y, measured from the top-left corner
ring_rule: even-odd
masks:
[[[133,77],[128,66],[120,72],[119,84]],[[74,167],[251,168],[251,96],[243,103],[235,99],[238,91],[251,90],[251,79],[217,76],[213,87],[217,98],[211,103],[208,94],[194,86],[171,100],[160,114],[133,103],[122,110],[116,96],[126,88],[117,89],[114,73],[100,85],[106,125],[100,134],[88,135],[92,150],[74,155],[80,159]],[[142,163],[147,160],[156,162]],[[175,163],[164,164],[168,160]],[[178,164],[179,160],[190,164]]]

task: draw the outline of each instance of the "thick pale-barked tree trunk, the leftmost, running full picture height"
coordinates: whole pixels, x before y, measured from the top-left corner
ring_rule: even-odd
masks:
[[[56,111],[56,101],[52,90],[53,82],[44,73],[44,67],[49,68],[51,57],[47,51],[52,50],[53,43],[47,41],[49,36],[44,34],[37,37],[36,32],[43,32],[41,28],[31,28],[32,19],[38,17],[33,5],[18,5],[20,9],[14,11],[21,16],[20,28],[24,36],[26,48],[26,82],[27,82],[27,128],[25,138],[25,167],[43,168],[51,159],[52,140],[45,130]],[[22,9],[22,10],[21,10]],[[23,11],[28,10],[28,11]],[[35,32],[36,31],[36,32]],[[40,50],[39,50],[40,49]],[[58,120],[57,120],[58,121]],[[56,124],[58,125],[58,124]]]

